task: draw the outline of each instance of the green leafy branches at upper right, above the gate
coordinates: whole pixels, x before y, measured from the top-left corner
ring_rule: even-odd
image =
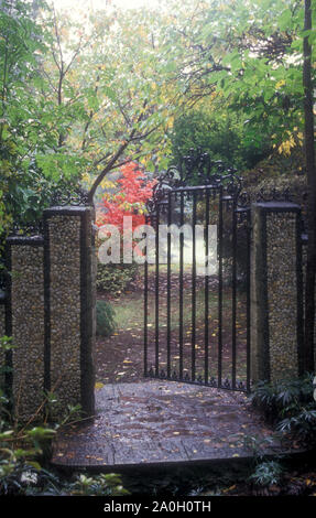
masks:
[[[268,139],[280,145],[288,132],[302,132],[304,2],[184,0],[179,4],[174,0],[170,4],[167,35],[170,52],[176,55],[175,82],[190,106],[209,99],[219,117],[236,114],[244,125],[243,145],[260,139],[263,148]],[[312,8],[315,17],[315,2]],[[308,36],[313,41],[315,31]],[[315,80],[313,69],[314,85]]]

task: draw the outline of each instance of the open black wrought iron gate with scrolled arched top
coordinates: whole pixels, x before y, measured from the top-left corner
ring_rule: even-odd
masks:
[[[236,170],[207,154],[160,176],[145,234],[146,377],[250,389],[251,222],[241,198]]]

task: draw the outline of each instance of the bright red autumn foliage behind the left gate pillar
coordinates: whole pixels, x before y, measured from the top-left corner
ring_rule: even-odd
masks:
[[[133,229],[145,224],[145,202],[151,198],[156,183],[143,180],[143,173],[137,162],[128,162],[120,169],[122,177],[118,180],[120,188],[117,193],[105,194],[100,203],[97,225],[116,225],[123,229],[123,217],[132,217]]]

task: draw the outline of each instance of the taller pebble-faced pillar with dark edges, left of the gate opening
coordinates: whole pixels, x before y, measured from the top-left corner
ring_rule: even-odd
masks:
[[[44,212],[47,386],[58,413],[77,403],[95,412],[92,241],[90,207]]]

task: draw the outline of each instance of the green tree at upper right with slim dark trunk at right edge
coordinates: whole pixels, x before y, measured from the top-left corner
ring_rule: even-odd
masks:
[[[206,97],[224,99],[227,110],[249,119],[248,131],[263,122],[273,145],[286,151],[304,136],[308,257],[303,367],[309,370],[315,368],[315,14],[314,0],[176,2],[168,30],[179,63],[175,79],[192,105]]]

